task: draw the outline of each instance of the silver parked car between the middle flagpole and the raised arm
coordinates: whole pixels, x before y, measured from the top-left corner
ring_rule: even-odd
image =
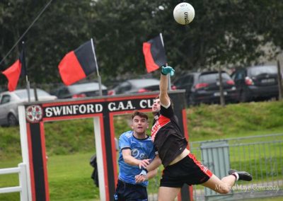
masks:
[[[171,88],[175,89],[175,86]],[[158,79],[128,79],[108,91],[108,95],[144,93],[149,91],[159,91]]]

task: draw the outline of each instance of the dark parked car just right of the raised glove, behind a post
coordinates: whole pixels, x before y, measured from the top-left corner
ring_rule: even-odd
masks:
[[[221,72],[222,84],[224,88],[225,101],[233,103],[237,101],[237,91],[231,76],[225,71]],[[219,103],[219,72],[190,72],[174,81],[177,89],[185,89],[187,105],[197,105],[200,103]]]

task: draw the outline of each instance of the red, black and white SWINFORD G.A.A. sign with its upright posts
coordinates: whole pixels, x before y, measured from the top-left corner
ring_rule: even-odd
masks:
[[[187,136],[184,92],[171,91],[169,94],[180,127]],[[50,200],[44,122],[79,118],[93,118],[100,200],[112,200],[117,185],[114,116],[129,114],[133,110],[151,112],[151,105],[157,95],[158,92],[152,92],[25,103],[19,106],[23,163],[28,164],[29,200]],[[185,193],[182,193],[182,200],[190,200],[192,193],[188,189],[183,190]]]

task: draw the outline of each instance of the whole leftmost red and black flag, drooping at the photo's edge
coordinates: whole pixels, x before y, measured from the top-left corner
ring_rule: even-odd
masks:
[[[2,71],[2,74],[8,79],[8,91],[15,91],[18,85],[18,79],[20,76],[26,75],[25,70],[25,52],[22,50],[20,58],[16,60],[15,63],[8,67],[5,71]]]

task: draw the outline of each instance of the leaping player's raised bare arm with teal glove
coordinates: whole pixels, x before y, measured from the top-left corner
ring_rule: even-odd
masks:
[[[170,76],[174,75],[175,70],[172,67],[162,67],[161,70],[161,77],[160,77],[160,84],[159,84],[159,98],[160,98],[160,103],[163,106],[167,106],[170,103],[170,98],[168,96],[168,77],[167,75],[169,74]]]

